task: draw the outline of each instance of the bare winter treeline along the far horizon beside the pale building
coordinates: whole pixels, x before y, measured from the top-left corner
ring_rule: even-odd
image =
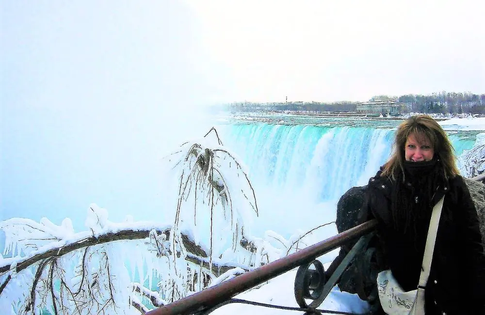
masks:
[[[455,93],[443,91],[428,95],[376,95],[369,99],[369,102],[374,101],[402,102],[406,105],[406,109],[403,112],[485,114],[485,94],[473,94],[470,92]],[[356,111],[358,103],[360,102],[235,102],[226,105],[226,109],[231,111],[292,110],[309,112],[353,112]]]

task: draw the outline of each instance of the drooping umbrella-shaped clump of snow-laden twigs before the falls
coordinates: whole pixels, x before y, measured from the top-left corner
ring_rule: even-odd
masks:
[[[211,143],[210,139],[205,139],[211,133],[217,137],[216,143]],[[242,248],[240,244],[248,242],[244,240],[242,233],[245,219],[248,219],[251,213],[258,216],[258,206],[254,189],[249,181],[247,172],[244,170],[242,163],[236,155],[232,154],[222,146],[222,141],[215,128],[211,128],[204,136],[204,139],[194,142],[184,142],[181,150],[169,156],[170,161],[175,163],[172,168],[178,178],[176,192],[178,194],[177,208],[171,239],[169,240],[174,255],[175,247],[180,245],[180,253],[185,256],[183,244],[178,242],[179,225],[187,224],[193,221],[194,230],[197,223],[203,225],[207,223],[207,230],[204,232],[206,239],[209,240],[209,266],[208,270],[214,275],[211,261],[214,254],[222,257],[219,239],[225,242],[226,237],[220,234],[214,237],[215,231],[230,231],[232,233],[232,252],[236,253]],[[175,187],[174,187],[175,188]],[[193,199],[192,199],[193,198]],[[250,211],[253,210],[253,211]],[[207,214],[206,221],[203,222],[202,215]],[[201,219],[199,219],[200,217]],[[251,219],[249,219],[251,220]],[[207,223],[206,223],[207,222]],[[185,225],[184,225],[185,226]],[[198,234],[198,233],[197,233]],[[200,236],[196,236],[199,239]],[[217,243],[216,243],[217,242]],[[227,255],[230,255],[227,251]],[[176,264],[177,257],[172,257],[173,276],[181,277]],[[206,268],[206,266],[204,266]],[[178,281],[177,285],[182,285]],[[174,289],[173,292],[176,292]]]

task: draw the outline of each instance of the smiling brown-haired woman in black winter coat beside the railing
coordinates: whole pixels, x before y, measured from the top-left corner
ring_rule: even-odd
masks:
[[[369,181],[360,220],[377,219],[386,268],[404,291],[415,290],[432,208],[443,195],[426,314],[485,314],[477,211],[456,168],[452,144],[433,118],[412,116],[398,127],[392,157]]]

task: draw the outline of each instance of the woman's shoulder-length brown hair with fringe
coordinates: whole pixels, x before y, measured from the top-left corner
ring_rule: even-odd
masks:
[[[428,115],[416,115],[406,119],[397,128],[393,153],[384,165],[381,176],[388,176],[395,180],[398,173],[404,173],[404,146],[410,134],[414,134],[419,142],[429,140],[432,143],[435,151],[433,158],[439,159],[444,178],[453,178],[460,173],[456,167],[453,145],[443,128]]]

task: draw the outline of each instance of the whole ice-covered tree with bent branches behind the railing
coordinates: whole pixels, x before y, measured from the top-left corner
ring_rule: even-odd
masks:
[[[140,314],[306,245],[268,231],[250,234],[256,195],[240,159],[215,129],[166,157],[174,219],[112,222],[96,204],[86,230],[12,218],[0,257],[2,314]],[[217,231],[217,233],[215,233]]]

